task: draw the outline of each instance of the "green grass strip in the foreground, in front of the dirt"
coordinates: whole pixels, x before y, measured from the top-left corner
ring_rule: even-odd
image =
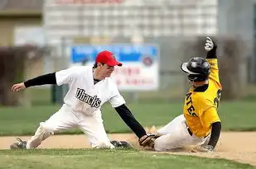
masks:
[[[154,154],[156,156],[153,156]],[[0,151],[0,168],[253,169],[255,167],[224,159],[177,156],[164,153],[140,153],[133,149],[36,149],[26,151]]]

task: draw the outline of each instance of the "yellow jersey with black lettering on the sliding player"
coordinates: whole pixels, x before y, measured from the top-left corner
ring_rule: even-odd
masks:
[[[208,84],[191,87],[186,93],[183,115],[186,124],[197,137],[210,134],[211,124],[220,121],[217,109],[220,102],[221,84],[217,59],[206,59],[210,63]]]

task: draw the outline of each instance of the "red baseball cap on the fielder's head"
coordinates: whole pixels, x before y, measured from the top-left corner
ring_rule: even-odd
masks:
[[[109,66],[122,66],[123,63],[119,63],[115,58],[114,54],[112,52],[109,52],[107,50],[104,50],[102,52],[99,52],[95,59],[96,63],[106,63]]]

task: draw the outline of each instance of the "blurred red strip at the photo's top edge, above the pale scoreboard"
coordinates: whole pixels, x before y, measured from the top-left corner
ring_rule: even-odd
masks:
[[[56,0],[57,4],[123,3],[125,0]]]

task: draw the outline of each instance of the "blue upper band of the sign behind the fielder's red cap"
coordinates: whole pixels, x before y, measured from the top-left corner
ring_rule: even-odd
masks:
[[[143,57],[157,60],[159,52],[156,45],[75,45],[71,47],[70,62],[94,62],[97,54],[103,50],[113,52],[120,62],[140,62]]]

